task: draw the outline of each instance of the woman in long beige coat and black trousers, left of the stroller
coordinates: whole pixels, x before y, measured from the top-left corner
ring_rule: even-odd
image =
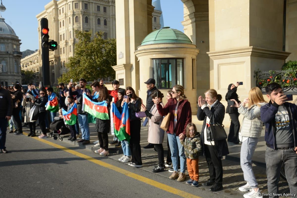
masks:
[[[36,134],[35,134],[35,128],[36,128],[36,125],[35,124],[36,124],[36,121],[35,122],[30,122],[30,117],[29,117],[30,110],[31,110],[31,108],[34,105],[32,103],[32,100],[35,101],[35,98],[34,98],[32,92],[31,91],[28,91],[23,96],[22,106],[26,110],[24,122],[25,123],[29,123],[29,127],[30,127],[30,133],[28,134],[28,136],[35,137],[36,136]]]

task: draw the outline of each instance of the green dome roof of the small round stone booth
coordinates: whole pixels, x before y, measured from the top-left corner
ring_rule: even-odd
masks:
[[[162,29],[151,32],[147,35],[141,45],[156,44],[156,43],[188,43],[192,44],[192,41],[183,32],[171,29],[170,27],[164,27]]]

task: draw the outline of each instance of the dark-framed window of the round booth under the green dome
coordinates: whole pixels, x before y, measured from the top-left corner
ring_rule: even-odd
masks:
[[[184,59],[153,59],[154,79],[158,89],[173,88],[174,85],[184,85]]]

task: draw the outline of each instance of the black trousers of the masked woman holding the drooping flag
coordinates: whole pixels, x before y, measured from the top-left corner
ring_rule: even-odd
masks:
[[[132,153],[132,163],[142,165],[140,148],[140,120],[130,121],[130,150]]]

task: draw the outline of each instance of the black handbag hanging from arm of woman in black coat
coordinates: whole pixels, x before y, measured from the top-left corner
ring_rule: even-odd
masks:
[[[208,142],[225,140],[227,134],[223,124],[215,123],[213,114],[210,116],[210,123],[206,124],[206,139]]]

